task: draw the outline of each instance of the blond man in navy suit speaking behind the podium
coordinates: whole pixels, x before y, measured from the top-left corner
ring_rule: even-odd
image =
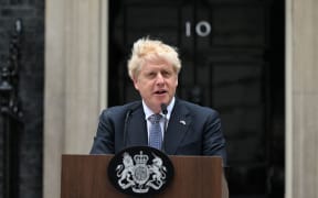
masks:
[[[173,47],[156,40],[138,40],[128,61],[128,72],[141,101],[102,112],[91,154],[114,154],[134,145],[152,146],[149,118],[159,114],[163,118],[159,121],[162,140],[157,141],[159,150],[168,155],[218,155],[225,165],[219,113],[176,97],[181,62]]]

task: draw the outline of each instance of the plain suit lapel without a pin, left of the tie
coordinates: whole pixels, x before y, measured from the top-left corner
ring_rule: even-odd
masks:
[[[130,117],[128,124],[128,145],[147,145],[147,124],[142,106],[136,109]]]

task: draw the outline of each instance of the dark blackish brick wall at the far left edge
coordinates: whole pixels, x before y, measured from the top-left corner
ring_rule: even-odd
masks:
[[[22,130],[19,142],[18,189],[21,198],[42,198],[44,0],[0,0],[0,68],[7,63],[14,22],[22,20],[19,97]],[[0,117],[0,197],[3,197],[3,120]]]

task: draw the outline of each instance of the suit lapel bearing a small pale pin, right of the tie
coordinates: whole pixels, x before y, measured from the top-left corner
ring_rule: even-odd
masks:
[[[168,129],[165,134],[165,148],[167,154],[176,154],[178,146],[181,144],[189,125],[191,124],[189,113],[189,110],[184,108],[179,100],[176,100]]]

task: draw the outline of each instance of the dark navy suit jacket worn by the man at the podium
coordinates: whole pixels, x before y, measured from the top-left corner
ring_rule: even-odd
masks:
[[[221,120],[213,109],[176,98],[163,144],[168,155],[216,155],[226,165]],[[116,154],[134,145],[148,145],[141,101],[104,110],[91,154]]]

